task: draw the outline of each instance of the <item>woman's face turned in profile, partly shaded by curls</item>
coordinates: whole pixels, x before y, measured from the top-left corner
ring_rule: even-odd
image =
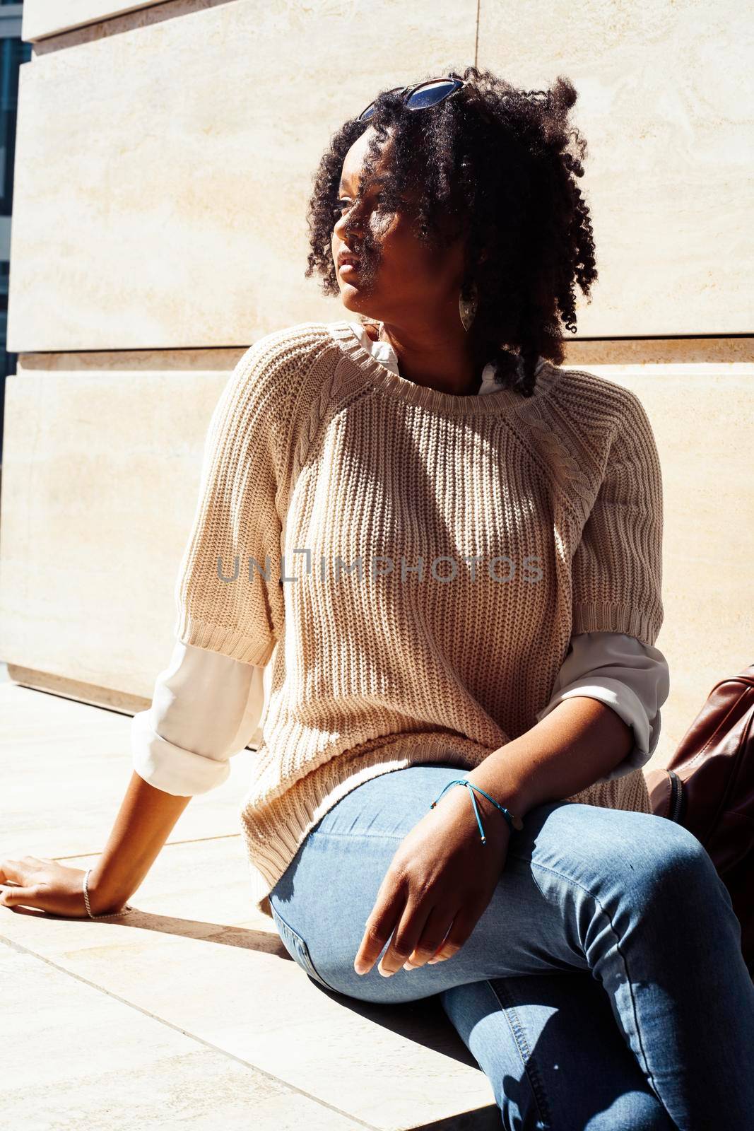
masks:
[[[415,192],[406,192],[398,211],[380,208],[379,178],[389,169],[392,140],[376,162],[374,180],[356,200],[358,179],[374,129],[367,127],[346,154],[332,230],[332,259],[344,307],[396,326],[431,326],[447,316],[458,318],[458,288],[463,269],[463,241],[433,250],[423,243],[414,222]],[[359,256],[356,269],[338,267],[338,252]]]

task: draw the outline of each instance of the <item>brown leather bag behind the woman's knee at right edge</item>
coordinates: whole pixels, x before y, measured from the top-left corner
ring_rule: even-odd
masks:
[[[711,856],[754,977],[754,664],[714,684],[666,769],[683,784],[673,783],[670,815]]]

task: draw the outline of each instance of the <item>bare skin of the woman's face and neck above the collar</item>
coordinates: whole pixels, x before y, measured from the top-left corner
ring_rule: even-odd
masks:
[[[372,287],[358,275],[337,270],[340,299],[354,313],[383,322],[383,337],[392,345],[401,377],[451,395],[478,392],[482,373],[475,372],[467,333],[458,311],[463,270],[463,235],[433,250],[416,234],[413,193],[398,213],[379,211],[379,183],[367,184],[356,202],[358,179],[367,146],[374,136],[367,127],[346,154],[338,198],[343,214],[332,230],[332,259],[340,250],[358,253],[365,231],[380,242],[382,260]],[[385,172],[392,141],[376,163],[375,178]]]

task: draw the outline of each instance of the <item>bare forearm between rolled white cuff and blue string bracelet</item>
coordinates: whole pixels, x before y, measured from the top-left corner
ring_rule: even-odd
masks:
[[[523,818],[535,805],[586,789],[623,761],[632,745],[632,728],[612,707],[573,696],[466,777]],[[474,796],[479,812],[484,806],[485,813],[499,813],[476,791]],[[499,818],[504,819],[502,813]]]

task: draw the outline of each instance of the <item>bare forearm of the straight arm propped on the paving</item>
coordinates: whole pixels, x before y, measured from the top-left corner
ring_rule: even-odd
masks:
[[[113,830],[87,883],[93,914],[120,909],[133,895],[190,801],[155,788],[133,770]]]

